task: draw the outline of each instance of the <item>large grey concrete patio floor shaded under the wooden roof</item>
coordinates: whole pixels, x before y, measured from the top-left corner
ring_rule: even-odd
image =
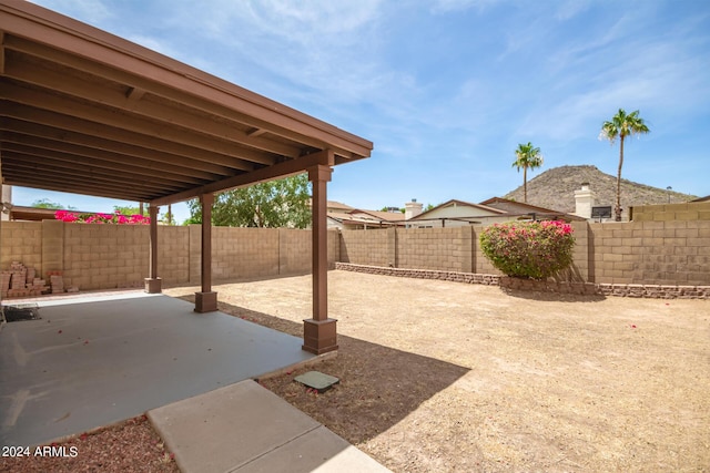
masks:
[[[0,331],[0,444],[37,445],[314,358],[303,340],[144,292],[38,300]]]

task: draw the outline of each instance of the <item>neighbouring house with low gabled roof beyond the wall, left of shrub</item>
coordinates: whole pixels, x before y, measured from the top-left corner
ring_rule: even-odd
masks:
[[[584,220],[564,212],[493,197],[480,204],[452,199],[407,219],[406,226],[407,228],[442,228],[530,219]]]

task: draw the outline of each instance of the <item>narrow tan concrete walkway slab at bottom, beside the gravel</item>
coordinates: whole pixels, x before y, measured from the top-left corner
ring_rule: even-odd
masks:
[[[148,417],[185,473],[389,471],[252,380]]]

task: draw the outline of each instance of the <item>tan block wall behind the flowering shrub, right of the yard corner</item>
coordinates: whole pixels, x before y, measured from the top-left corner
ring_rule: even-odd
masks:
[[[660,206],[667,207],[667,206]],[[674,207],[672,220],[666,214],[631,223],[572,223],[572,266],[559,280],[647,284],[710,285],[710,220],[702,209]],[[639,214],[635,213],[635,217]],[[405,269],[435,269],[500,275],[483,255],[478,238],[483,226],[458,228],[412,228],[343,232],[341,261]],[[396,251],[383,251],[396,244]],[[368,254],[368,248],[377,248]],[[384,254],[384,257],[379,256]]]

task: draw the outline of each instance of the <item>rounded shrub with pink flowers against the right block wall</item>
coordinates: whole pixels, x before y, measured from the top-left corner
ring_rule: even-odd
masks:
[[[547,279],[572,263],[575,237],[569,224],[516,222],[486,227],[484,255],[507,276]]]

